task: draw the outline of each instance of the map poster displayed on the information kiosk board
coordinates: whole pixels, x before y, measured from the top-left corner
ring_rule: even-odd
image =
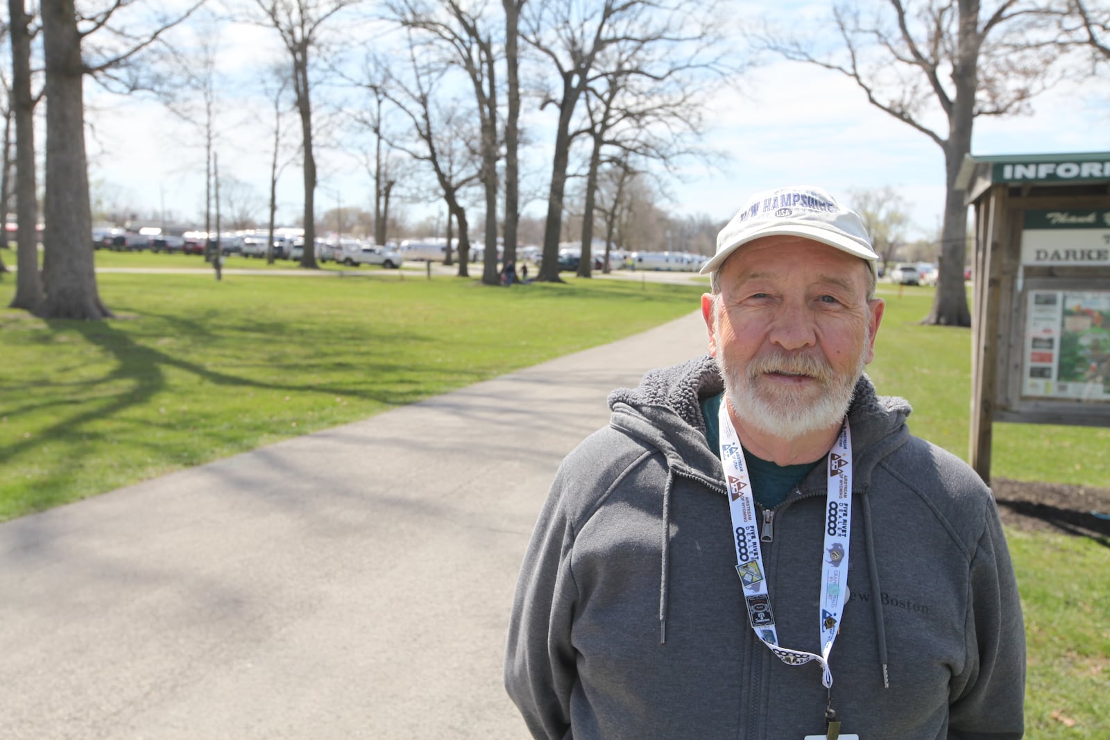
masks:
[[[1022,395],[1110,401],[1110,291],[1029,292]]]

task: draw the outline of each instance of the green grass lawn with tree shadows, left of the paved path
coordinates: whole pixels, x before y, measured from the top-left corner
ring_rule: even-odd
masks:
[[[0,312],[0,519],[609,342],[698,296],[616,281],[402,283],[385,271],[101,274],[99,285],[118,321]],[[0,283],[0,305],[12,290]]]

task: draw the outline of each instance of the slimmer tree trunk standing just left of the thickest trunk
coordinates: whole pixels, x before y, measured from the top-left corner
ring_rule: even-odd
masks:
[[[34,99],[31,97],[30,18],[23,0],[8,0],[11,18],[12,109],[16,114],[16,295],[10,306],[37,311],[42,303],[39,276],[39,204],[34,175]],[[6,214],[7,217],[7,214]],[[4,225],[7,230],[7,224]],[[92,231],[85,241],[92,236]],[[7,231],[4,233],[7,239]]]

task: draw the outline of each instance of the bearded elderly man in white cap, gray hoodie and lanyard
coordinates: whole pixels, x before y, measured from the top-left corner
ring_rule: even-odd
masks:
[[[505,682],[536,738],[1021,737],[990,490],[864,375],[876,260],[816,187],[720,232],[709,354],[609,396],[533,534]]]

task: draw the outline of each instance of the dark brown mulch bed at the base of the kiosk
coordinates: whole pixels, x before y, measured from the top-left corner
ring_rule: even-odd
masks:
[[[1110,488],[992,478],[1002,524],[1110,544]]]

